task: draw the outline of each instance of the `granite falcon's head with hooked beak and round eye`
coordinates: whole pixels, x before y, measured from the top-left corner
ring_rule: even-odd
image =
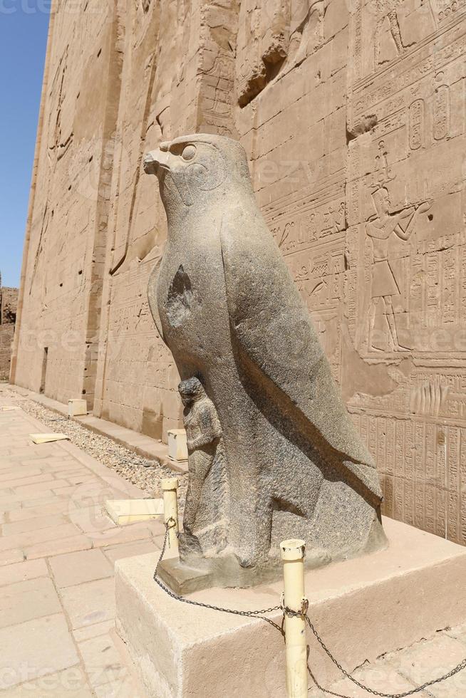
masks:
[[[147,175],[157,175],[162,201],[169,210],[175,204],[206,204],[234,179],[247,179],[244,148],[225,136],[197,133],[160,143],[144,158]]]

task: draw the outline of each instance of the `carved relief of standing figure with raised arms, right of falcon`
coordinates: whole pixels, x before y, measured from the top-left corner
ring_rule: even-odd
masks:
[[[371,238],[373,248],[373,274],[371,286],[371,305],[369,308],[369,348],[373,351],[380,349],[373,345],[373,329],[376,322],[376,311],[379,301],[383,303],[383,314],[390,330],[390,343],[394,351],[409,351],[409,347],[400,345],[393,311],[392,296],[400,295],[400,288],[393,274],[388,259],[388,242],[395,234],[400,240],[407,241],[413,233],[417,217],[430,209],[430,203],[425,202],[418,207],[410,206],[396,213],[390,213],[390,194],[386,187],[380,187],[373,192],[372,199],[376,207],[376,215],[368,219],[366,233]],[[403,227],[403,222],[407,222]]]

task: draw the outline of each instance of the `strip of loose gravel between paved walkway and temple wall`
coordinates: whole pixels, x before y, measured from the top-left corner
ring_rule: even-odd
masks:
[[[160,480],[164,477],[177,477],[180,482],[178,489],[180,510],[184,508],[187,490],[187,474],[174,473],[170,468],[160,464],[157,460],[149,460],[138,456],[129,449],[117,444],[108,437],[95,434],[86,429],[82,424],[67,417],[61,417],[48,407],[43,407],[38,402],[20,397],[17,392],[8,388],[2,390],[18,403],[19,406],[42,424],[45,424],[51,432],[63,432],[72,444],[98,460],[100,463],[114,470],[133,485],[136,485],[147,496],[158,497],[160,494]]]

